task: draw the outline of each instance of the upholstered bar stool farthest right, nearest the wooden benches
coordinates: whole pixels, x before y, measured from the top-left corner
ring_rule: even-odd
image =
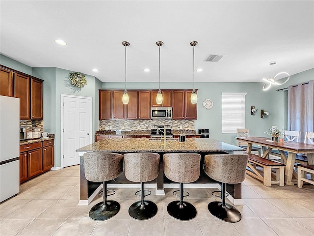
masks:
[[[241,183],[245,179],[246,154],[212,154],[205,156],[205,173],[221,182],[221,202],[211,202],[208,209],[215,217],[226,222],[238,222],[241,213],[226,203],[226,183]]]

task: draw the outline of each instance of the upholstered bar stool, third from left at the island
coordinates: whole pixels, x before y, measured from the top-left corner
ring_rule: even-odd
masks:
[[[179,201],[168,204],[169,215],[178,220],[191,220],[196,216],[196,208],[183,201],[189,193],[183,190],[183,183],[191,183],[200,177],[201,155],[197,153],[168,153],[163,155],[163,171],[167,178],[180,183],[180,189],[173,192],[179,196]],[[175,192],[179,191],[179,195]],[[186,193],[186,195],[183,195]]]

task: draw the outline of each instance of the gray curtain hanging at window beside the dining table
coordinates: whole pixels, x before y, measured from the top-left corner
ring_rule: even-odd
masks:
[[[305,132],[314,132],[313,91],[314,80],[288,87],[288,130],[301,131],[301,143]]]

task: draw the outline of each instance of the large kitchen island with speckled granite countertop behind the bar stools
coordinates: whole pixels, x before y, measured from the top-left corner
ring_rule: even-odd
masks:
[[[85,152],[116,152],[125,154],[129,152],[155,152],[160,154],[159,175],[157,179],[149,182],[156,186],[156,194],[164,194],[164,187],[169,184],[173,187],[173,182],[167,179],[163,174],[162,155],[171,152],[199,153],[201,154],[201,175],[200,178],[186,187],[194,188],[220,188],[220,185],[213,179],[209,178],[202,168],[204,157],[207,154],[234,153],[234,151],[245,151],[243,148],[236,147],[221,141],[213,139],[195,139],[188,138],[186,142],[179,142],[177,139],[166,141],[151,140],[147,138],[125,138],[125,139],[105,139],[88,146],[77,149],[80,156],[80,201],[79,205],[88,205],[97,195],[101,188],[101,183],[89,182],[84,174],[83,154]],[[132,184],[132,185],[131,185]],[[172,184],[172,185],[171,185]],[[138,186],[137,186],[138,185]],[[134,184],[125,178],[122,173],[115,180],[109,181],[108,187],[127,188],[139,184]],[[149,186],[149,185],[148,185]],[[179,186],[179,184],[178,184]],[[234,204],[242,204],[241,201],[241,184],[227,185],[227,191],[230,193],[229,200]]]

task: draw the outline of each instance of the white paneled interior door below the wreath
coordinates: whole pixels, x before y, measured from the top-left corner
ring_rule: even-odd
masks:
[[[75,150],[91,144],[92,98],[63,96],[63,167],[79,164]]]

